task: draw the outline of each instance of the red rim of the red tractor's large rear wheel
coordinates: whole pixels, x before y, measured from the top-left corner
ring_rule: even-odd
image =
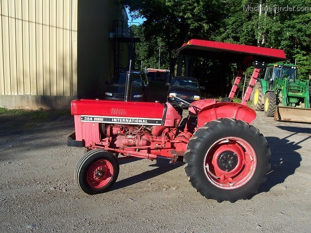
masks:
[[[252,178],[256,164],[256,153],[248,142],[239,137],[225,137],[207,150],[204,171],[216,187],[236,189]]]

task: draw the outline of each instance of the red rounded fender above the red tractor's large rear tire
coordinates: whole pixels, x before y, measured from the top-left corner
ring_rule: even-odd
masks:
[[[218,118],[233,118],[251,124],[256,119],[256,112],[240,103],[218,102],[202,108],[198,114],[198,128]]]

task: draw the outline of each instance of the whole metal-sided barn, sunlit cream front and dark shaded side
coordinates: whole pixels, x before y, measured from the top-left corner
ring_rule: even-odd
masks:
[[[0,107],[69,108],[103,92],[113,20],[127,26],[121,0],[0,0]]]

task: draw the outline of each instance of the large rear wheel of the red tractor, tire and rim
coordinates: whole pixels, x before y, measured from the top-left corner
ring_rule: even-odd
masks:
[[[218,202],[247,199],[266,181],[271,152],[265,137],[241,120],[220,118],[199,128],[185,152],[185,171],[197,192]]]

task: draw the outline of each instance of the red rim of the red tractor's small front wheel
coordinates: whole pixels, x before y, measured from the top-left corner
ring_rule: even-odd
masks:
[[[111,180],[113,172],[113,166],[108,160],[97,160],[88,168],[87,183],[92,188],[102,188]]]

